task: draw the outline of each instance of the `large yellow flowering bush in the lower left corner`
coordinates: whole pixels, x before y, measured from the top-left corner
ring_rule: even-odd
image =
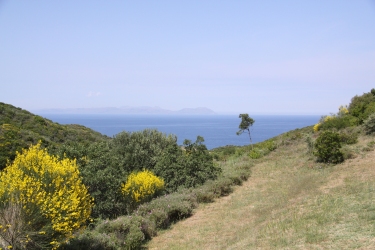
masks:
[[[51,156],[40,143],[31,146],[17,152],[14,162],[0,173],[0,227],[7,227],[5,221],[11,222],[8,228],[16,227],[7,219],[11,207],[20,207],[18,227],[23,225],[18,240],[0,233],[0,242],[18,244],[16,248],[23,248],[25,241],[27,249],[57,248],[84,226],[92,206],[75,160]]]

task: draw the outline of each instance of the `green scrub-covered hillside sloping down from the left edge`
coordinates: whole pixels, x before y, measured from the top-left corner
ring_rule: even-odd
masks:
[[[0,102],[0,169],[16,151],[42,141],[54,150],[62,143],[108,140],[109,138],[81,125],[60,125],[21,108]]]

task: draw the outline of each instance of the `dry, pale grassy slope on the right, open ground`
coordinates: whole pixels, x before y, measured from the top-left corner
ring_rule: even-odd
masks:
[[[375,249],[372,137],[324,166],[303,139],[256,160],[248,181],[148,244],[149,249]],[[229,159],[225,165],[236,164]]]

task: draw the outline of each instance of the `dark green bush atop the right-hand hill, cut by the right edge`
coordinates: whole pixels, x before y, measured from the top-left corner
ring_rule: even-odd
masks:
[[[349,113],[358,118],[359,124],[362,124],[367,117],[375,112],[375,89],[369,93],[352,98],[349,104]]]

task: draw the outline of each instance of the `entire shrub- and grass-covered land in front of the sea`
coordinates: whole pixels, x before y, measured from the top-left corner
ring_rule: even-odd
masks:
[[[0,107],[3,249],[159,249],[157,239],[194,213],[197,228],[181,223],[166,249],[338,247],[350,237],[362,239],[352,248],[373,244],[373,175],[355,160],[375,148],[375,90],[315,126],[210,151],[200,136],[183,145],[151,129],[108,138]],[[228,196],[234,190],[243,191]],[[184,230],[194,239],[186,247]]]

